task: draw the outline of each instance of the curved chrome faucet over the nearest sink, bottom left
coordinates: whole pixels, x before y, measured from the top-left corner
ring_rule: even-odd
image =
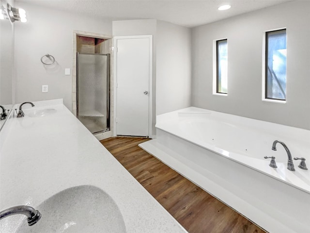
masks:
[[[8,216],[19,215],[19,214],[26,215],[28,217],[27,221],[28,221],[29,226],[36,224],[42,216],[39,211],[35,210],[31,206],[18,205],[18,206],[14,206],[6,210],[0,211],[0,220]]]

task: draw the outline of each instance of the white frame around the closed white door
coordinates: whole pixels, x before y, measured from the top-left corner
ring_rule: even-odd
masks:
[[[149,138],[152,138],[152,113],[153,113],[153,35],[130,35],[130,36],[114,36],[113,42],[114,47],[114,58],[113,58],[113,73],[114,73],[114,87],[113,87],[113,102],[114,102],[114,116],[115,120],[113,122],[113,136],[117,136],[117,40],[119,39],[139,39],[148,38],[150,41],[149,47]]]

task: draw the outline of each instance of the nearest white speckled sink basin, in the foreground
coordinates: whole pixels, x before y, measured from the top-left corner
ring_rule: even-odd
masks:
[[[125,233],[114,200],[91,185],[68,188],[35,208],[42,217],[33,226],[25,219],[16,233]]]

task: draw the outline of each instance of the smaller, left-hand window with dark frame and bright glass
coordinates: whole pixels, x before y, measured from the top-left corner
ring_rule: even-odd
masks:
[[[227,94],[227,39],[217,40],[217,93]]]

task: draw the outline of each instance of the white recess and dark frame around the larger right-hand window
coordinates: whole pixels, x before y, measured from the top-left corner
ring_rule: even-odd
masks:
[[[284,99],[277,99],[277,98],[267,98],[267,77],[268,77],[268,33],[280,32],[285,31],[286,33],[286,40],[287,40],[287,30],[286,28],[279,28],[273,29],[263,32],[263,82],[262,82],[262,100],[267,102],[275,102],[275,103],[286,103],[287,100],[287,89],[285,93],[285,100]],[[287,47],[286,47],[287,48]],[[287,64],[286,64],[287,66]],[[287,67],[286,67],[287,69]],[[287,83],[287,75],[286,75],[286,83]]]

